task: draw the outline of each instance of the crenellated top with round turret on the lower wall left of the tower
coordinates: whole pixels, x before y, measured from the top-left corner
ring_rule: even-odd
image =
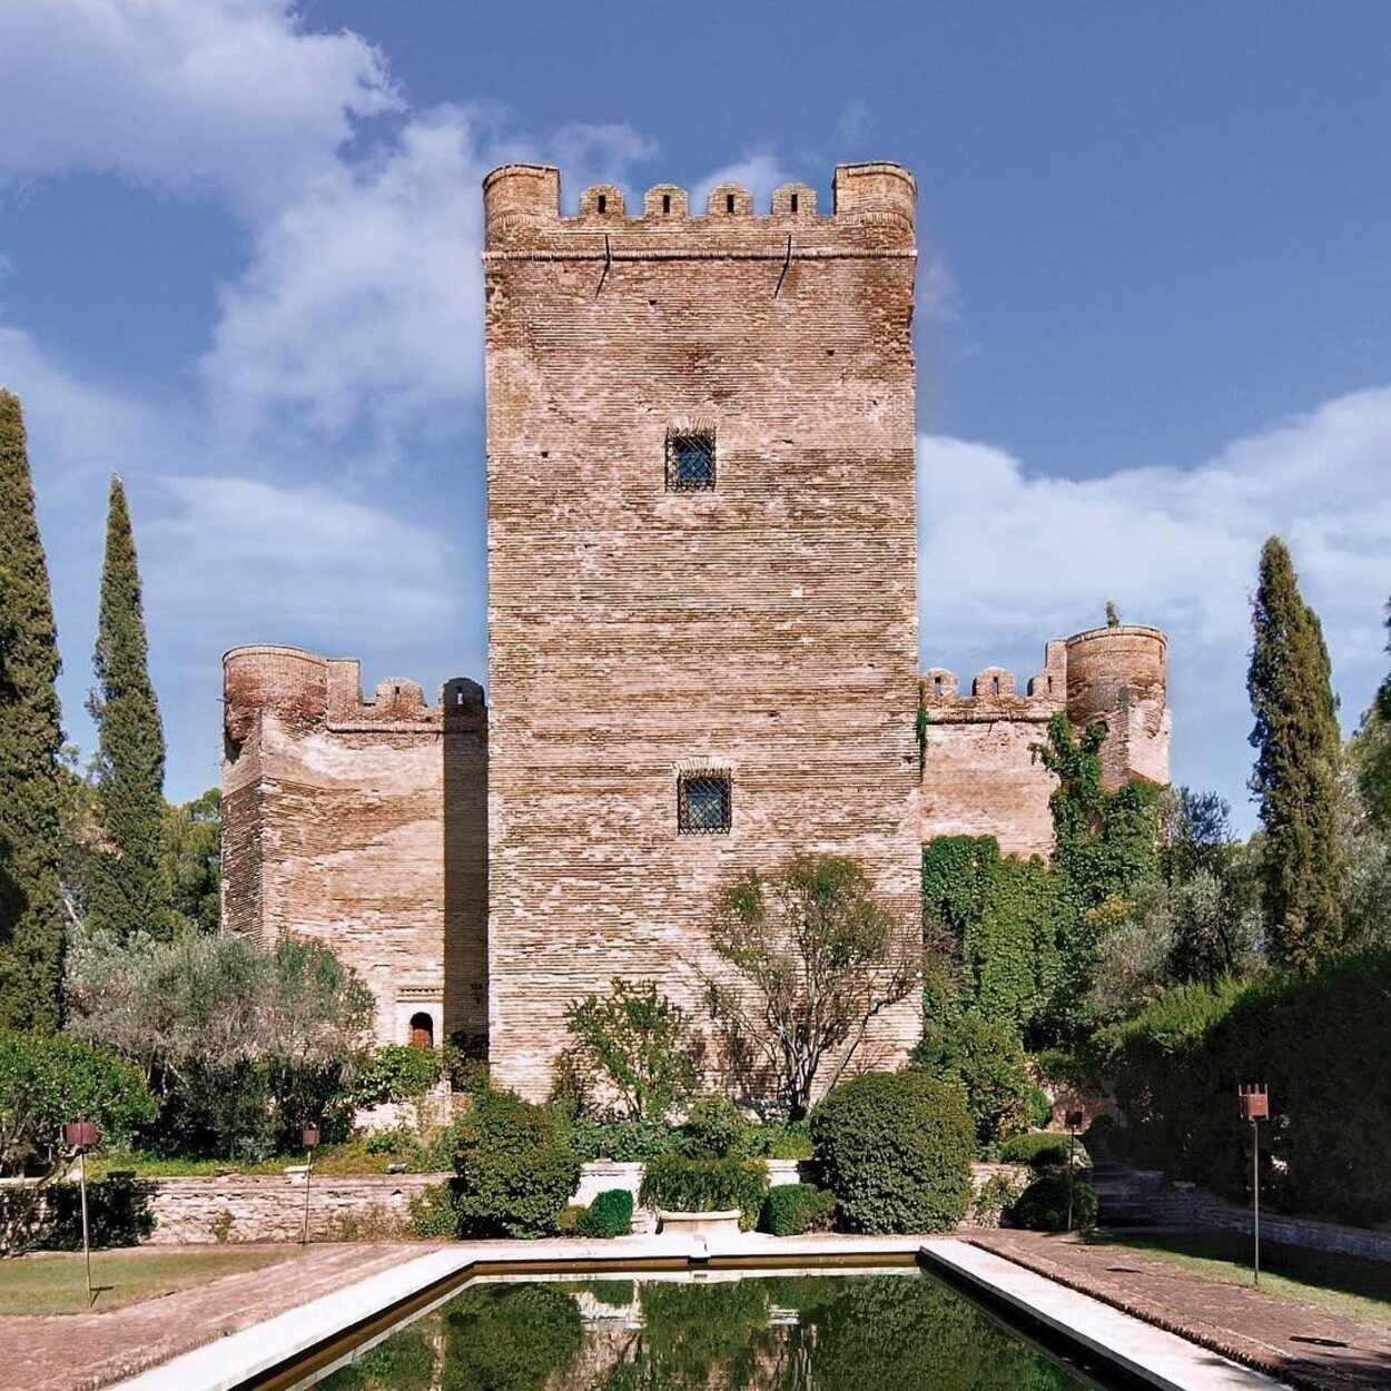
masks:
[[[227,739],[241,744],[262,715],[296,733],[430,733],[487,721],[483,687],[467,677],[448,680],[437,704],[419,682],[394,676],[371,700],[362,694],[356,658],[325,658],[298,647],[234,647],[223,657]]]

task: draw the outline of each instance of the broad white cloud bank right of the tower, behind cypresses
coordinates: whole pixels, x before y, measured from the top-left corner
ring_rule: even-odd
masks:
[[[1237,440],[1191,469],[1029,477],[1004,451],[919,441],[919,587],[928,662],[1031,673],[1047,637],[1116,600],[1170,636],[1175,776],[1241,798],[1249,595],[1267,536],[1288,542],[1356,722],[1384,670],[1391,593],[1391,387]]]

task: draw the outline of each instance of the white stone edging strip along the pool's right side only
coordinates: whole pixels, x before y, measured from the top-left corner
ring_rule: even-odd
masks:
[[[970,1242],[924,1244],[919,1257],[1025,1327],[1042,1326],[1157,1391],[1288,1391],[1284,1381]]]

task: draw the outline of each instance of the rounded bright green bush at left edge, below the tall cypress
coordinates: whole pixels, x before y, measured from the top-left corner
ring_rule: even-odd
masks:
[[[104,1143],[157,1114],[145,1075],[111,1049],[0,1031],[0,1174],[51,1170],[64,1123],[81,1116],[102,1127]]]

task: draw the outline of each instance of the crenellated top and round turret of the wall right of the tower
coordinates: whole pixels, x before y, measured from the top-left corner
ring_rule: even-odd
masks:
[[[988,666],[960,690],[942,666],[922,673],[919,693],[929,725],[993,722],[1046,725],[1066,711],[1074,727],[1107,726],[1102,748],[1103,782],[1128,778],[1168,782],[1168,641],[1159,629],[1117,625],[1075,633],[1047,644],[1043,666],[1018,691],[1014,673]],[[931,769],[925,771],[931,778]]]

